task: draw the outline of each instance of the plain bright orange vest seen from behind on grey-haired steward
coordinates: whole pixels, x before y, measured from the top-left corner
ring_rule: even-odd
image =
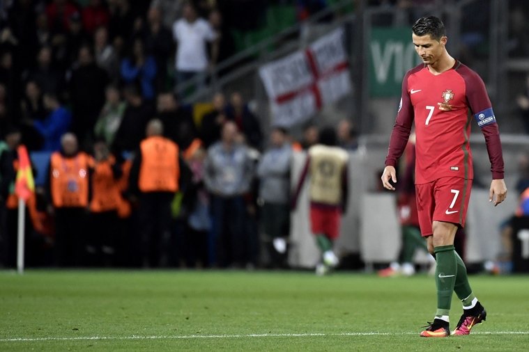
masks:
[[[173,141],[153,136],[140,144],[141,166],[138,188],[142,192],[178,191],[178,145]]]

